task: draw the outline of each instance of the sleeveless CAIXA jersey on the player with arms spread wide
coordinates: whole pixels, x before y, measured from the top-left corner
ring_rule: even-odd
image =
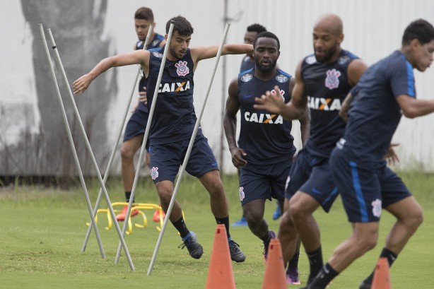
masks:
[[[147,86],[148,107],[151,107],[153,93],[156,90],[162,58],[162,48],[151,51]],[[190,49],[187,49],[181,59],[166,59],[151,122],[151,143],[173,143],[192,137],[197,120],[193,106],[193,65]],[[201,134],[200,129],[197,134]]]

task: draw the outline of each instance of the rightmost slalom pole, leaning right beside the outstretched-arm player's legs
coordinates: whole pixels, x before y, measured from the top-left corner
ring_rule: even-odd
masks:
[[[192,138],[190,138],[190,143],[189,143],[189,146],[187,148],[187,153],[185,153],[185,157],[184,157],[184,163],[182,163],[182,168],[181,168],[181,171],[180,171],[180,175],[178,176],[178,179],[177,179],[177,182],[176,182],[176,185],[175,185],[175,189],[173,190],[172,199],[170,199],[170,204],[169,204],[169,207],[168,207],[168,211],[166,212],[166,216],[165,216],[164,223],[163,223],[163,228],[161,228],[160,235],[158,235],[156,249],[153,252],[153,256],[152,256],[152,259],[151,259],[151,264],[149,264],[149,268],[148,268],[148,276],[151,275],[151,273],[152,273],[153,264],[156,261],[156,257],[157,257],[157,254],[158,254],[158,249],[160,248],[160,244],[161,244],[161,241],[163,240],[163,235],[164,235],[164,232],[165,232],[165,228],[168,225],[170,213],[172,213],[172,208],[173,208],[173,205],[175,204],[175,198],[176,198],[176,195],[177,195],[177,191],[178,191],[178,188],[180,187],[180,182],[181,182],[182,176],[184,175],[185,167],[187,167],[187,163],[188,163],[188,160],[189,160],[189,157],[190,157],[190,153],[192,152],[193,143],[194,143],[194,140],[195,140],[196,135],[197,135],[197,130],[199,129],[199,126],[200,126],[202,114],[204,114],[206,100],[208,100],[209,91],[211,90],[211,85],[213,84],[213,78],[216,75],[218,61],[220,60],[221,51],[223,49],[223,45],[225,44],[226,35],[228,35],[229,26],[230,26],[230,24],[226,23],[225,30],[223,32],[223,37],[221,39],[220,47],[218,47],[218,51],[217,51],[217,55],[216,55],[216,64],[214,64],[214,69],[213,69],[213,73],[211,75],[211,79],[209,81],[208,90],[206,90],[206,96],[205,96],[204,104],[202,105],[201,112],[199,114],[199,117],[197,117],[196,124],[194,125],[194,130],[193,130]]]

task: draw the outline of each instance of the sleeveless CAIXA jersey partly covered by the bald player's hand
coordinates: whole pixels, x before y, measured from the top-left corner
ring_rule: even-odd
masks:
[[[269,81],[254,76],[254,69],[238,75],[238,102],[240,102],[241,129],[240,148],[247,153],[245,159],[253,165],[283,163],[291,160],[295,153],[292,122],[278,114],[266,110],[256,110],[254,98],[259,98],[266,90],[274,93],[274,86],[283,93],[285,102],[290,100],[289,81],[291,75],[278,69]]]

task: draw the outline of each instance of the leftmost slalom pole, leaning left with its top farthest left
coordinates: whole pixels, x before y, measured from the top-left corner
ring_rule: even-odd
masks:
[[[98,232],[98,227],[96,226],[95,217],[93,216],[93,213],[92,213],[92,205],[90,204],[88,189],[86,188],[86,184],[84,182],[83,172],[81,172],[80,162],[78,161],[78,155],[76,152],[76,148],[74,146],[74,140],[72,138],[71,129],[69,129],[68,118],[66,117],[64,103],[61,101],[59,85],[57,84],[56,73],[54,73],[53,63],[52,63],[51,57],[49,56],[47,39],[45,38],[44,28],[42,27],[42,24],[39,24],[39,28],[40,28],[40,33],[41,33],[41,37],[42,37],[42,42],[44,43],[45,55],[47,56],[47,61],[49,64],[49,72],[51,73],[51,76],[52,76],[54,88],[56,88],[57,98],[59,100],[59,105],[61,108],[61,116],[64,119],[64,125],[65,125],[66,134],[68,135],[69,145],[71,146],[72,155],[74,156],[74,163],[76,164],[77,171],[78,171],[78,177],[80,178],[81,187],[83,188],[83,193],[84,193],[84,196],[86,198],[86,204],[88,205],[88,210],[89,210],[89,214],[90,214],[90,224],[94,224],[93,228],[95,228],[96,240],[98,240],[98,247],[100,247],[102,259],[104,259],[105,253],[104,253],[104,248],[102,247],[100,232]],[[89,228],[90,228],[90,226],[89,226]],[[89,234],[90,234],[90,232],[89,232]]]

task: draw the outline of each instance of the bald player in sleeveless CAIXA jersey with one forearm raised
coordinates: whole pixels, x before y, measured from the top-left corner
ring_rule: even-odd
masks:
[[[328,212],[338,194],[329,157],[346,126],[339,117],[339,110],[366,69],[358,57],[341,49],[343,40],[343,23],[339,16],[327,13],[319,17],[313,30],[315,53],[297,66],[291,102],[284,104],[280,95],[271,93],[257,98],[257,107],[286,119],[299,119],[306,105],[310,108],[309,141],[298,153],[289,174],[285,212],[278,232],[283,258],[294,254],[297,233],[300,235],[310,261],[307,283],[323,265],[319,227],[312,213],[319,206]]]

